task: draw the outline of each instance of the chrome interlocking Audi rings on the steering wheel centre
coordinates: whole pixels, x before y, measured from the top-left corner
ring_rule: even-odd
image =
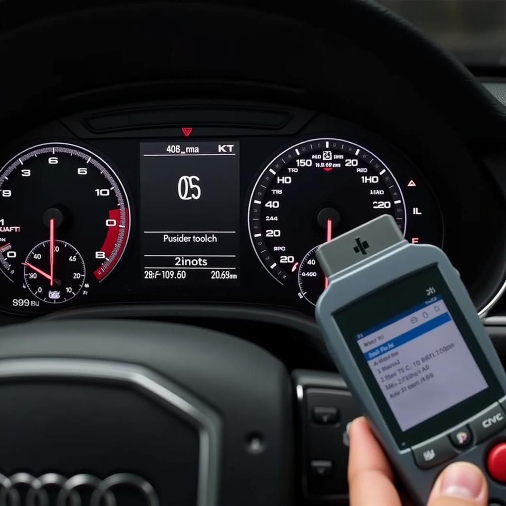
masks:
[[[0,474],[0,506],[85,506],[82,496],[90,497],[90,506],[121,506],[117,500],[121,489],[135,495],[139,506],[159,506],[151,484],[127,473],[104,480],[88,474],[71,478],[55,473],[38,478],[28,473],[17,473],[9,478]]]

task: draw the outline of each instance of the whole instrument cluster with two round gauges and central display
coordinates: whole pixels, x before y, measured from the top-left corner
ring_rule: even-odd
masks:
[[[4,146],[2,309],[177,301],[312,313],[327,284],[321,243],[388,213],[412,243],[444,246],[431,184],[388,141],[312,111],[251,128],[244,111],[159,131],[92,111]]]

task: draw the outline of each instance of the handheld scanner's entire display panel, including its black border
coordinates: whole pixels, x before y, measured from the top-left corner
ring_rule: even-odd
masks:
[[[443,432],[502,395],[436,266],[334,317],[400,446]]]

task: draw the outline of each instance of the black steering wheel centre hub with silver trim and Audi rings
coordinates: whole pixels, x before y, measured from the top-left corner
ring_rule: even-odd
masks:
[[[125,320],[0,334],[0,504],[287,503],[290,382],[261,348]]]

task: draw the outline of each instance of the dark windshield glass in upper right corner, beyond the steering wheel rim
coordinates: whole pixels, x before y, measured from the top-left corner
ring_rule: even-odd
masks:
[[[506,2],[377,0],[478,72],[506,70]]]

